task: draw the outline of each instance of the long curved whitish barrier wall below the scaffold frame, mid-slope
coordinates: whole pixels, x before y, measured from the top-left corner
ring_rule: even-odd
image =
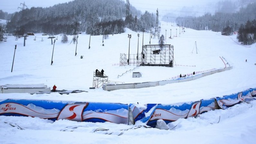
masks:
[[[158,81],[158,82],[145,82],[145,83],[134,83],[134,84],[116,84],[116,85],[105,84],[105,85],[103,85],[103,90],[113,91],[113,90],[118,90],[118,89],[144,88],[144,87],[152,87],[152,86],[179,83],[179,82],[187,82],[187,81],[191,81],[191,80],[201,78],[203,76],[209,76],[209,75],[215,74],[217,72],[230,70],[232,68],[233,67],[220,68],[220,69],[213,70],[213,71],[208,71],[208,72],[205,72],[205,73],[202,73],[202,74],[182,77],[182,78],[178,78],[178,79],[174,79],[174,80],[166,80],[166,81]]]

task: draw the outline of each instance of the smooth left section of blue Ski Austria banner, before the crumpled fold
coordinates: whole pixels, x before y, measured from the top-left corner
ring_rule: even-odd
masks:
[[[91,103],[48,100],[3,100],[0,115],[32,116],[50,120],[128,124],[129,106],[119,103]]]

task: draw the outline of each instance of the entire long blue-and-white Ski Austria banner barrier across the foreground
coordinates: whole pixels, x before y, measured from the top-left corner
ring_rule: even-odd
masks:
[[[1,116],[32,116],[49,120],[68,119],[79,122],[112,122],[116,124],[134,124],[141,121],[156,127],[157,120],[166,124],[179,118],[196,117],[198,114],[226,109],[240,102],[255,100],[256,89],[199,100],[182,104],[121,104],[95,103],[54,100],[15,100],[0,101]]]

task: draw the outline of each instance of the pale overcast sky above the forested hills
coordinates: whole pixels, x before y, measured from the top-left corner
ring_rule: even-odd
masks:
[[[18,12],[22,7],[21,3],[31,7],[49,7],[54,4],[66,3],[72,0],[0,0],[0,10],[4,12],[13,13]],[[123,0],[126,2],[126,0]],[[184,6],[197,8],[198,12],[205,12],[207,10],[214,9],[214,4],[221,0],[129,0],[137,9],[142,12],[146,10],[149,12],[156,12],[159,9],[159,13],[166,14],[170,11],[177,11],[182,9]]]

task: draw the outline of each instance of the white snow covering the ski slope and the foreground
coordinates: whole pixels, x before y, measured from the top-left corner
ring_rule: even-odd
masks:
[[[51,57],[53,45],[48,36],[36,34],[29,36],[26,46],[23,38],[15,41],[10,36],[7,42],[0,43],[0,85],[4,84],[46,84],[62,90],[85,90],[88,92],[71,93],[69,95],[9,93],[0,94],[0,99],[37,99],[37,100],[70,100],[91,102],[116,103],[161,103],[174,104],[180,102],[210,99],[227,94],[240,92],[247,88],[256,87],[255,71],[256,45],[243,46],[237,42],[236,35],[222,36],[212,31],[196,31],[185,28],[180,32],[179,27],[162,22],[161,34],[166,37],[166,44],[174,45],[174,67],[139,67],[132,72],[141,72],[141,78],[132,78],[132,72],[121,75],[135,66],[119,67],[120,53],[128,54],[129,38],[131,34],[130,53],[137,53],[137,33],[129,29],[123,34],[91,36],[80,34],[78,37],[77,56],[76,44],[71,42],[73,36],[68,36],[69,42],[62,44],[58,35],[54,46],[53,64]],[[167,31],[165,31],[165,29]],[[177,29],[177,37],[176,37]],[[142,49],[142,33],[139,33],[139,53]],[[43,38],[44,41],[41,41]],[[144,44],[149,44],[150,34],[144,33]],[[197,53],[195,42],[197,42]],[[14,67],[11,73],[14,45]],[[151,44],[158,44],[158,39],[151,39]],[[83,59],[80,56],[83,55]],[[96,69],[104,69],[110,81],[137,83],[153,82],[171,79],[179,74],[190,74],[213,68],[223,68],[223,56],[233,69],[205,76],[197,80],[166,84],[164,86],[125,89],[107,92],[99,89],[89,89],[93,84],[93,73]],[[247,60],[247,62],[245,62]],[[190,67],[195,66],[195,67]],[[0,143],[154,143],[175,142],[188,143],[254,143],[256,136],[256,102],[242,103],[228,110],[215,110],[204,113],[197,118],[180,119],[173,122],[173,130],[159,130],[153,128],[138,128],[133,125],[111,123],[86,123],[59,120],[49,120],[32,117],[0,116]],[[217,123],[219,121],[220,122]],[[15,123],[15,124],[14,124]],[[14,125],[11,126],[10,124]],[[24,130],[18,129],[18,126]],[[136,124],[142,125],[142,124]],[[75,128],[77,127],[77,128]],[[109,129],[107,132],[94,132],[96,128]],[[131,129],[129,129],[131,128]],[[123,132],[124,129],[129,129]],[[65,130],[65,131],[64,131]],[[71,132],[72,131],[72,132]],[[105,133],[111,133],[105,135]],[[118,134],[122,133],[121,136]],[[10,133],[15,133],[10,135]],[[185,139],[184,139],[185,137]]]

